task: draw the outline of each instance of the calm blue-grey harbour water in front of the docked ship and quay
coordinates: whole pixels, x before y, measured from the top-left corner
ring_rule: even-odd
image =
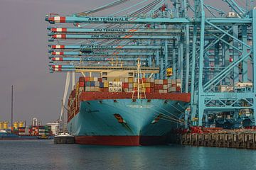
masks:
[[[256,151],[178,145],[53,145],[53,140],[0,141],[0,169],[256,169]]]

